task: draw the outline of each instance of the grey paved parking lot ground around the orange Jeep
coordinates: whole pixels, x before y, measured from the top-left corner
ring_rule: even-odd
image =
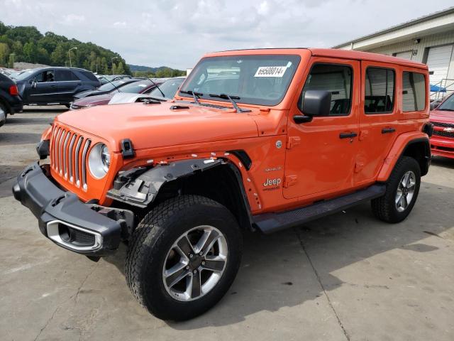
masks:
[[[98,263],[65,251],[13,199],[13,178],[63,111],[28,108],[0,127],[0,340],[454,340],[454,160],[433,161],[401,224],[360,205],[246,234],[223,300],[170,323],[133,299],[124,247]]]

